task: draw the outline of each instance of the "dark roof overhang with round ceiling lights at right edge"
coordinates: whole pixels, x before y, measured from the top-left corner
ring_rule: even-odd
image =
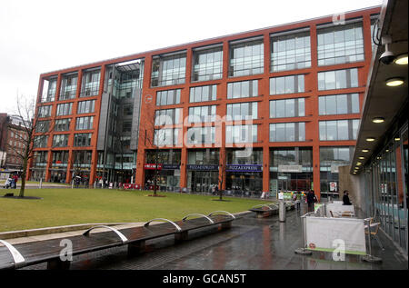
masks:
[[[394,55],[408,53],[408,1],[389,0],[384,1],[379,16],[380,39],[384,35],[392,37],[389,45]],[[392,63],[384,65],[380,56],[384,53],[383,45],[375,45],[372,62],[368,71],[361,124],[358,130],[354,157],[351,162],[350,173],[354,173],[355,167],[359,167],[357,174],[363,171],[371,157],[385,144],[385,135],[394,127],[397,115],[402,114],[402,109],[407,105],[408,99],[408,66]],[[386,80],[399,77],[404,79],[404,84],[390,87]],[[374,123],[375,117],[384,118],[383,123]],[[367,138],[374,138],[368,142]],[[369,152],[364,153],[367,149]],[[364,157],[360,159],[359,157]],[[359,166],[357,163],[361,162]]]

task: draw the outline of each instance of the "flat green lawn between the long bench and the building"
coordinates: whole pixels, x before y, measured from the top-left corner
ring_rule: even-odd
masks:
[[[4,190],[5,191],[5,190]],[[2,190],[3,192],[3,190]],[[25,196],[41,200],[0,197],[0,232],[79,223],[144,222],[153,218],[181,220],[186,214],[247,211],[264,201],[217,196],[109,189],[26,189]]]

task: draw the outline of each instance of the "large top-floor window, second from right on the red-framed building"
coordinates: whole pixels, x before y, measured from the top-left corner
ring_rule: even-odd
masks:
[[[271,71],[311,67],[310,32],[291,35],[272,35]]]

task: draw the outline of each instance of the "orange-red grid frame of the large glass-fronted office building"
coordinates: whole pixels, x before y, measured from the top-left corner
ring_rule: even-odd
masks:
[[[77,103],[79,101],[85,100],[79,97],[81,91],[81,81],[82,74],[86,69],[100,67],[101,76],[100,76],[100,85],[99,93],[93,97],[86,98],[86,100],[94,99],[95,100],[95,112],[89,115],[94,115],[94,129],[87,130],[85,132],[93,133],[91,144],[87,147],[88,150],[92,151],[92,161],[91,161],[91,173],[89,175],[90,184],[93,184],[96,180],[96,165],[97,165],[97,134],[98,134],[98,124],[99,117],[101,113],[101,98],[104,89],[105,82],[105,71],[107,65],[113,65],[116,63],[127,62],[135,59],[144,59],[145,68],[143,75],[143,85],[142,85],[142,95],[141,95],[141,109],[140,109],[140,119],[141,122],[144,122],[144,119],[148,119],[155,110],[163,109],[163,106],[155,105],[155,95],[158,91],[171,90],[171,89],[181,89],[181,98],[180,104],[171,104],[166,105],[166,109],[172,108],[182,108],[183,115],[188,115],[188,108],[191,106],[197,106],[201,103],[189,103],[189,91],[191,87],[203,86],[203,85],[217,85],[217,99],[213,102],[207,102],[206,104],[216,105],[216,114],[224,116],[226,114],[226,104],[232,103],[246,103],[249,101],[258,102],[258,116],[257,119],[254,119],[253,123],[257,124],[257,141],[253,143],[253,148],[261,148],[263,150],[263,191],[267,192],[270,189],[270,149],[272,148],[284,148],[284,147],[310,147],[312,149],[312,161],[313,161],[313,181],[314,181],[314,191],[319,195],[320,189],[320,147],[324,146],[354,146],[355,140],[343,140],[343,141],[320,141],[320,131],[319,131],[319,121],[330,121],[330,120],[342,120],[342,119],[357,119],[361,117],[361,108],[363,105],[363,97],[365,91],[366,78],[368,74],[369,65],[372,58],[372,35],[371,35],[371,19],[373,15],[377,15],[380,12],[380,7],[370,7],[362,10],[357,10],[353,12],[345,13],[342,16],[339,16],[338,19],[346,20],[353,18],[360,18],[362,21],[363,27],[363,38],[364,38],[364,60],[358,62],[344,63],[339,65],[317,65],[317,25],[324,25],[334,23],[334,16],[324,16],[321,18],[316,18],[312,20],[306,20],[302,22],[296,22],[288,25],[277,25],[274,27],[269,27],[260,30],[254,30],[251,32],[245,32],[235,35],[227,35],[222,37],[217,37],[213,39],[208,39],[204,41],[198,41],[186,45],[177,45],[173,47],[168,47],[164,49],[159,49],[155,51],[149,51],[145,53],[127,55],[124,57],[119,57],[115,59],[110,59],[106,61],[101,61],[98,63],[93,63],[89,65],[81,65],[72,68],[67,68],[64,70],[59,70],[55,72],[50,72],[40,75],[40,83],[38,87],[38,99],[36,107],[43,105],[41,103],[40,97],[43,93],[43,84],[44,80],[50,77],[56,76],[56,89],[55,89],[55,101],[52,101],[52,111],[51,116],[46,119],[57,119],[58,116],[55,116],[57,104],[63,103],[74,103],[73,109],[70,114],[73,119],[78,115],[76,113]],[[270,69],[271,65],[271,38],[273,34],[297,30],[301,28],[309,28],[310,40],[311,40],[311,66],[303,69],[296,70],[286,70],[280,72],[272,72]],[[244,76],[229,76],[229,52],[230,52],[230,43],[232,41],[261,37],[263,39],[264,45],[264,72],[262,74],[250,74]],[[221,45],[223,47],[223,76],[217,80],[209,81],[192,81],[192,70],[193,70],[193,55],[196,47],[211,46],[211,45]],[[153,57],[155,55],[166,55],[177,51],[185,50],[185,83],[184,84],[175,84],[175,85],[166,85],[166,86],[157,86],[153,87],[151,85],[151,74],[152,74],[152,65]],[[324,71],[334,71],[340,69],[349,69],[357,68],[358,70],[358,85],[353,88],[345,89],[334,89],[331,91],[320,91],[318,89],[318,73]],[[60,91],[60,85],[62,81],[62,76],[67,73],[76,72],[78,74],[77,88],[75,98],[69,100],[57,100],[58,92]],[[304,74],[304,92],[295,93],[295,94],[279,94],[274,95],[270,94],[270,83],[269,79],[272,77],[280,77],[285,75],[293,74]],[[237,99],[227,99],[227,84],[229,82],[236,81],[246,81],[246,80],[258,80],[258,96],[254,98],[237,98]],[[360,113],[359,114],[334,114],[334,115],[320,115],[318,113],[318,97],[324,94],[359,94],[360,99]],[[152,102],[144,101],[146,96],[152,96]],[[271,118],[269,111],[269,102],[271,100],[279,100],[286,98],[299,98],[304,97],[305,106],[304,106],[304,116],[303,117],[291,117],[291,118]],[[82,116],[88,114],[82,114]],[[37,118],[35,119],[37,120]],[[42,119],[43,120],[43,119]],[[270,128],[269,124],[271,123],[288,123],[288,122],[304,122],[305,123],[305,140],[302,142],[270,142]],[[217,124],[213,124],[217,125]],[[187,129],[192,126],[191,124],[175,124],[173,127],[178,127],[182,129],[183,134],[187,132]],[[235,145],[225,144],[225,125],[221,125],[222,128],[222,141],[220,145],[215,144],[206,144],[204,147],[207,148],[219,148],[220,155],[220,166],[224,164],[225,151],[226,147],[234,147]],[[48,143],[44,148],[35,148],[35,151],[48,151],[47,164],[45,169],[45,180],[50,180],[49,168],[51,167],[51,151],[58,150],[68,150],[68,157],[71,159],[73,151],[84,149],[84,147],[74,147],[74,131],[75,131],[75,121],[72,121],[70,124],[68,146],[55,148],[52,147],[52,138],[55,134],[61,134],[59,132],[51,131],[48,137]],[[142,129],[139,130],[139,133],[142,134]],[[153,132],[151,132],[153,133]],[[65,133],[66,134],[66,133]],[[180,134],[179,134],[180,135]],[[139,137],[138,140],[138,149],[137,149],[137,158],[136,158],[136,172],[134,175],[135,184],[145,184],[145,169],[144,165],[146,164],[146,155],[145,149],[153,148],[152,145],[146,144],[143,141],[143,137]],[[169,149],[169,147],[165,147]],[[176,146],[174,147],[176,148]],[[178,149],[181,149],[181,160],[180,160],[180,187],[187,186],[187,153],[188,148],[182,144],[177,146]],[[32,163],[31,163],[32,164]],[[68,162],[67,171],[70,171],[72,164]],[[224,177],[223,169],[219,169],[219,175]],[[30,174],[28,174],[28,178]],[[72,174],[66,174],[66,182],[71,181]],[[220,189],[225,188],[226,181],[223,181]]]

